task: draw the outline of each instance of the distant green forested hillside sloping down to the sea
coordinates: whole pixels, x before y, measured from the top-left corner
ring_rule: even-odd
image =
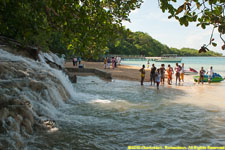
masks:
[[[169,48],[143,32],[127,31],[121,38],[108,44],[110,54],[161,56],[162,54],[177,54],[178,56],[222,56],[209,51],[199,53],[191,48]]]

